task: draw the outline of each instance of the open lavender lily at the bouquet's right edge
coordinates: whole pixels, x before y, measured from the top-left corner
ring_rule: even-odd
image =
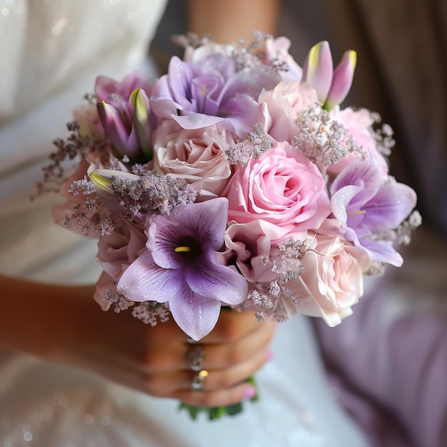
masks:
[[[401,266],[403,259],[391,242],[376,234],[397,228],[416,206],[416,193],[392,177],[383,181],[376,162],[358,161],[343,169],[331,185],[333,215],[344,228],[344,238],[362,246],[373,261]]]

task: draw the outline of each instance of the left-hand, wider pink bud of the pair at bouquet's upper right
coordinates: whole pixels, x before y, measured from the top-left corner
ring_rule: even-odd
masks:
[[[308,52],[303,68],[303,81],[316,90],[318,100],[324,103],[331,89],[333,61],[327,41],[319,42]]]

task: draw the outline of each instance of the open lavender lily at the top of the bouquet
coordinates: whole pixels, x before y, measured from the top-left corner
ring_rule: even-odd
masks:
[[[257,101],[262,89],[273,89],[278,81],[276,73],[261,68],[238,72],[227,56],[214,56],[209,63],[173,57],[168,74],[154,85],[151,109],[160,119],[174,117],[184,129],[224,121],[229,131],[243,138],[247,129],[263,122]]]

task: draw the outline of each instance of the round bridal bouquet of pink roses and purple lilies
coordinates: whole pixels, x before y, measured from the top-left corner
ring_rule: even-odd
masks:
[[[335,326],[364,275],[401,266],[416,194],[389,174],[389,126],[340,106],[356,53],[334,69],[321,42],[301,68],[288,39],[253,36],[186,36],[184,60],[153,82],[99,77],[55,141],[45,176],[63,179],[66,203],[54,218],[99,238],[102,308],[172,316],[195,341],[222,306]]]

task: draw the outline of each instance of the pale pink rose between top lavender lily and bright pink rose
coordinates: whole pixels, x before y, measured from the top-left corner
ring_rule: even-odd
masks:
[[[295,121],[299,112],[317,100],[316,91],[306,82],[281,81],[273,90],[263,90],[258,101],[266,104],[266,133],[276,141],[290,143],[298,131]]]

